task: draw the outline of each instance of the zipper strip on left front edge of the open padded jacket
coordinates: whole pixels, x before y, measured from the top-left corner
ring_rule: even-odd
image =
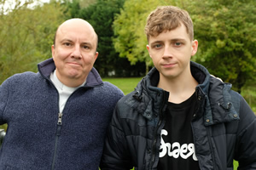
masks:
[[[166,93],[164,93],[163,101],[166,103]],[[162,111],[163,111],[165,103],[160,108],[160,119],[159,119],[159,122],[157,123],[157,127],[154,130],[154,143],[152,145],[152,158],[151,158],[151,162],[150,162],[150,166],[149,166],[150,169],[153,168],[153,164],[154,164],[155,152],[156,152],[155,144],[157,142],[157,131],[162,123],[162,118],[163,118]]]

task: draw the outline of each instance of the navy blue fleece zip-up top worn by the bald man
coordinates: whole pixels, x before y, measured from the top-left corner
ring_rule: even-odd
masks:
[[[59,94],[49,80],[54,70],[47,59],[38,73],[16,74],[0,86],[0,124],[8,123],[1,170],[98,169],[113,108],[124,94],[93,68],[59,117]]]

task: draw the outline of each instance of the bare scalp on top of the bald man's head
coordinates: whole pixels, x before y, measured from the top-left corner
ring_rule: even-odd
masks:
[[[56,30],[55,32],[55,39],[54,39],[54,46],[55,46],[55,42],[56,42],[56,37],[58,36],[58,34],[64,30],[69,30],[69,31],[78,31],[78,28],[84,28],[84,32],[88,31],[88,32],[93,32],[93,39],[95,39],[96,41],[96,47],[98,44],[98,37],[96,34],[96,31],[94,30],[94,28],[90,25],[89,22],[87,22],[86,20],[82,20],[82,19],[70,19],[70,20],[66,20],[64,21]]]

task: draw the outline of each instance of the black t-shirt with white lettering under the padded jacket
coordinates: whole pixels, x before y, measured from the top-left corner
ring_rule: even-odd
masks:
[[[166,124],[161,131],[159,170],[200,169],[191,129],[195,105],[195,93],[180,104],[168,103]]]

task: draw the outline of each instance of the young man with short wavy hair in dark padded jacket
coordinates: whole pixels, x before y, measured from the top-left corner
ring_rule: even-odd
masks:
[[[106,169],[256,169],[256,117],[231,85],[190,61],[193,22],[180,8],[156,8],[145,32],[154,68],[120,99],[108,129]]]

